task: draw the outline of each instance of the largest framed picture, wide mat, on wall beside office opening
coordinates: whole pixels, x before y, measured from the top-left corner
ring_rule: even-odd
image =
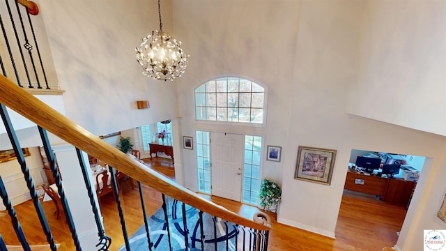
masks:
[[[295,179],[330,185],[336,150],[299,146]]]

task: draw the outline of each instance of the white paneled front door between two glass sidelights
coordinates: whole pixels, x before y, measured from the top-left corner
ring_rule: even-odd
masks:
[[[243,135],[211,132],[211,193],[241,201],[243,171]]]

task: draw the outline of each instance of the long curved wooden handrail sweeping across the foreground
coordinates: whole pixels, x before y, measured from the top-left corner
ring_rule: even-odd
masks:
[[[38,98],[21,89],[9,79],[0,75],[0,102],[26,117],[30,121],[45,128],[52,134],[76,146],[78,149],[107,162],[107,164],[141,181],[145,185],[169,195],[185,204],[189,204],[203,212],[215,215],[229,222],[258,230],[269,230],[253,220],[233,213],[228,209],[200,197],[196,193],[183,188],[170,178],[158,174],[153,169],[130,158],[114,146],[102,141],[91,132],[49,107]]]

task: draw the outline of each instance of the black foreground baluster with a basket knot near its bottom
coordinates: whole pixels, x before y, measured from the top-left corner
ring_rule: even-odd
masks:
[[[84,177],[86,190],[90,198],[91,209],[93,211],[93,214],[95,215],[96,227],[98,228],[99,242],[98,244],[96,244],[96,247],[99,247],[99,250],[101,251],[109,250],[110,245],[112,245],[112,238],[105,235],[105,230],[101,223],[98,206],[95,203],[95,198],[93,195],[93,187],[91,185],[90,179],[88,178],[90,167],[86,167],[86,165],[84,164],[84,157],[82,155],[82,152],[77,148],[76,153],[77,159],[79,160],[79,165],[81,166],[82,176]]]

